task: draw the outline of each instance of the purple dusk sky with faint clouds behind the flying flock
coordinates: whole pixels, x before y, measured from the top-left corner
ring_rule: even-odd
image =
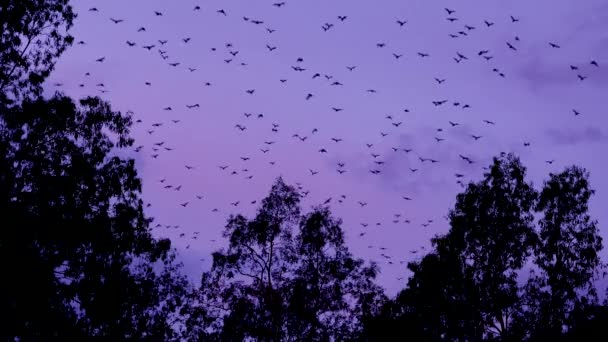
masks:
[[[608,238],[605,0],[73,5],[77,43],[47,89],[100,96],[141,120],[142,147],[124,155],[162,225],[154,234],[173,240],[194,281],[226,245],[226,218],[252,217],[282,176],[308,192],[304,211],[332,199],[351,251],[377,261],[394,294],[407,262],[448,231],[464,190],[455,174],[478,181],[501,152],[516,153],[537,188],[569,165],[589,170],[591,214]]]

